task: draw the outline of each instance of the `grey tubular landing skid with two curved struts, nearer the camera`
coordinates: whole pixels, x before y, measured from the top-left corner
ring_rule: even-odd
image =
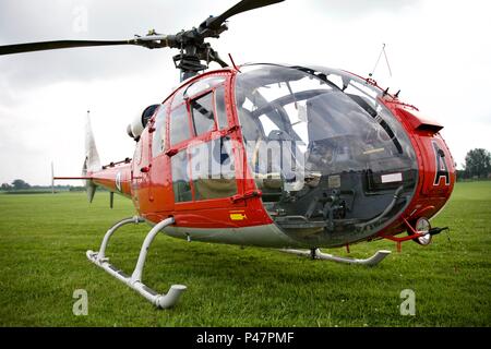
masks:
[[[109,238],[112,236],[112,233],[121,228],[124,225],[128,224],[139,224],[144,221],[141,217],[131,217],[125,218],[120,221],[118,221],[116,225],[113,225],[104,236],[103,243],[100,244],[100,250],[98,252],[94,252],[92,250],[88,250],[86,255],[88,261],[93,262],[95,265],[101,267],[107,273],[116,277],[117,279],[123,281],[129,287],[134,289],[136,292],[145,297],[148,301],[151,301],[153,304],[155,304],[158,308],[171,308],[173,306],[177,301],[179,300],[181,293],[185,291],[187,287],[183,285],[172,285],[167,292],[167,294],[158,294],[153,289],[148,288],[145,284],[142,282],[142,273],[143,273],[143,266],[145,265],[145,258],[146,254],[148,252],[148,248],[152,243],[152,241],[155,239],[157,233],[164,229],[167,226],[170,226],[173,224],[173,218],[167,218],[155,225],[151,231],[147,233],[145,241],[143,241],[142,249],[140,250],[139,261],[136,262],[136,266],[133,270],[133,274],[131,276],[128,276],[122,270],[116,268],[112,264],[110,264],[108,261],[109,258],[106,257],[105,252],[107,248],[107,243],[109,241]]]

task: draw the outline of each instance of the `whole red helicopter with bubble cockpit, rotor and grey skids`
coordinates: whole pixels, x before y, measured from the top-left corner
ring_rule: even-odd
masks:
[[[0,56],[93,46],[171,48],[181,83],[128,125],[132,158],[101,165],[87,112],[80,177],[88,201],[98,186],[134,204],[87,258],[154,305],[176,305],[187,287],[158,293],[143,280],[148,249],[159,232],[240,246],[278,249],[313,260],[375,266],[321,248],[388,239],[428,245],[448,201],[455,163],[443,127],[390,94],[372,77],[316,65],[231,65],[205,41],[219,38],[236,14],[284,0],[242,0],[197,27],[173,35],[151,31],[128,40],[56,40],[0,46]],[[220,69],[209,70],[216,62]],[[152,228],[131,275],[106,256],[122,226]],[[407,236],[400,237],[400,233]]]

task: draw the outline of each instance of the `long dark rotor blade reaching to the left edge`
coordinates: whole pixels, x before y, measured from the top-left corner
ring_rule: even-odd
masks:
[[[0,46],[0,56],[33,52],[33,51],[56,50],[61,48],[93,47],[93,46],[137,45],[147,48],[160,48],[169,46],[169,38],[170,37],[165,35],[149,35],[135,37],[130,40],[58,40],[58,41],[15,44],[15,45]]]

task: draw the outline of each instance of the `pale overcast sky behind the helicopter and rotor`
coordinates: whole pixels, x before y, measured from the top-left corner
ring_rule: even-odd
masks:
[[[236,0],[0,0],[0,45],[127,39],[197,26]],[[230,19],[213,47],[236,63],[340,68],[374,77],[444,125],[455,161],[491,151],[491,1],[286,0]],[[86,110],[103,163],[131,157],[125,127],[178,84],[173,50],[107,47],[0,57],[0,183],[79,176]],[[77,183],[79,184],[79,183]]]

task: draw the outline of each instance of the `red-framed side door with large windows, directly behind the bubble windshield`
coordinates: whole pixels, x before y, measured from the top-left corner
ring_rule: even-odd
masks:
[[[168,118],[175,209],[243,206],[236,129],[226,107],[226,76],[178,91]]]

